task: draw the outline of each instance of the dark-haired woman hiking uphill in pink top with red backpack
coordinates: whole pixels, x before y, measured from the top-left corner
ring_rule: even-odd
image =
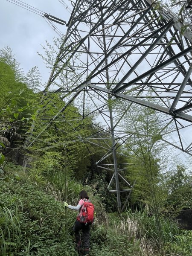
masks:
[[[77,251],[78,253],[80,253],[81,250],[81,236],[79,234],[79,231],[82,230],[83,233],[83,245],[84,245],[84,255],[89,256],[89,246],[90,246],[90,224],[93,222],[93,220],[86,222],[84,215],[85,212],[85,207],[84,204],[86,205],[87,202],[91,205],[91,207],[93,206],[93,204],[90,202],[89,197],[87,195],[87,192],[85,190],[82,190],[79,194],[80,197],[80,201],[78,203],[77,206],[71,206],[68,205],[66,202],[64,203],[64,206],[73,209],[73,210],[79,210],[79,214],[77,216],[77,220],[75,222],[75,225],[73,227],[73,230],[75,232],[75,238],[76,238],[76,244],[77,244]],[[94,214],[94,206],[93,206],[93,214]],[[91,213],[92,215],[92,213]],[[82,221],[83,218],[83,221]],[[84,223],[82,223],[84,222]]]

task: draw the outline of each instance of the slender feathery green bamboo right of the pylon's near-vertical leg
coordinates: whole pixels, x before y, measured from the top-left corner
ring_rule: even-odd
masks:
[[[154,100],[149,98],[149,101]],[[162,147],[166,152],[166,145],[161,141],[161,130],[164,129],[161,118],[154,110],[133,104],[126,114],[126,122],[122,122],[124,129],[132,134],[125,148],[130,164],[125,176],[131,185],[134,184],[132,204],[142,202],[154,208],[154,200],[157,204],[159,199],[156,193],[159,174],[167,162],[162,152]]]

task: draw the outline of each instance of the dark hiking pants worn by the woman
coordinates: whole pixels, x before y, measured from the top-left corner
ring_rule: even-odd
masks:
[[[89,251],[90,225],[85,225],[84,223],[76,221],[76,223],[73,227],[73,230],[75,232],[76,243],[79,245],[81,243],[81,236],[79,234],[79,231],[82,230],[84,250],[88,252]]]

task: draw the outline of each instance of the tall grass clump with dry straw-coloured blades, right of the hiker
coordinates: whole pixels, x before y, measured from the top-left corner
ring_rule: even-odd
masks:
[[[163,217],[160,217],[160,223],[164,244],[171,244],[177,241],[179,235],[177,225]],[[162,248],[155,216],[148,216],[146,210],[131,212],[129,209],[126,215],[114,223],[113,230],[118,234],[126,235],[129,241],[137,245],[140,255],[166,255],[167,248]]]

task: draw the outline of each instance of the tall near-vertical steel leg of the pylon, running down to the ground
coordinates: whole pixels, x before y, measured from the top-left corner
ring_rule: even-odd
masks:
[[[102,3],[101,3],[102,5]],[[101,17],[103,17],[103,11],[101,6]],[[102,34],[103,34],[103,45],[104,45],[104,52],[105,56],[107,55],[107,47],[106,47],[106,40],[105,40],[105,25],[102,23]],[[108,59],[105,60],[105,66],[108,65]],[[106,77],[107,77],[107,88],[110,89],[110,81],[109,81],[109,71],[108,68],[106,69]],[[111,99],[111,95],[108,94],[108,100]],[[117,160],[116,160],[116,146],[115,146],[115,134],[114,134],[114,125],[113,125],[113,110],[111,104],[108,105],[109,107],[109,116],[110,116],[110,125],[111,125],[111,140],[113,146],[113,163],[114,163],[114,173],[115,173],[115,183],[116,183],[116,197],[117,197],[117,208],[118,211],[121,212],[121,198],[120,198],[120,191],[119,191],[119,175],[118,175],[118,168],[117,168]]]

